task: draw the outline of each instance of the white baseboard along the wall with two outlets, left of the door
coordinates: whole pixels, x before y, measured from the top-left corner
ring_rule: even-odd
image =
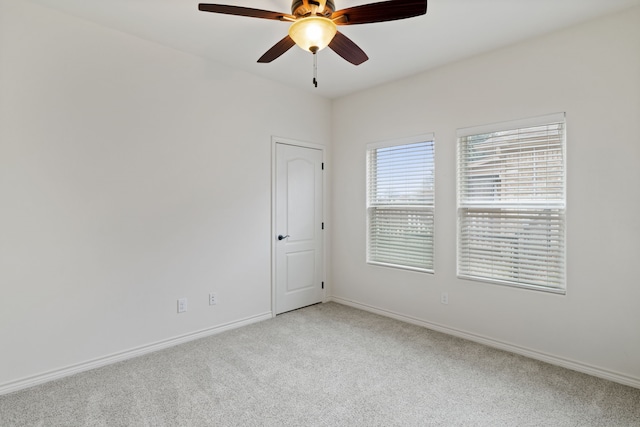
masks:
[[[59,378],[68,377],[80,372],[88,371],[91,369],[99,368],[101,366],[110,365],[112,363],[120,362],[122,360],[131,359],[133,357],[142,356],[147,353],[162,350],[168,347],[173,347],[178,344],[183,344],[188,341],[193,341],[199,338],[204,338],[210,335],[219,334],[231,329],[236,329],[241,326],[250,325],[252,323],[261,322],[273,318],[271,312],[258,314],[255,316],[246,317],[240,320],[234,320],[233,322],[225,323],[222,325],[214,326],[200,331],[191,332],[188,334],[180,335],[177,337],[169,338],[166,340],[158,341],[155,343],[135,347],[130,350],[110,354],[104,357],[98,357],[96,359],[88,360],[86,362],[77,363],[74,365],[66,366],[60,369],[54,369],[41,374],[21,378],[8,383],[0,384],[0,395],[11,393],[14,391],[22,390],[28,387],[33,387],[38,384],[42,384],[48,381],[57,380]]]

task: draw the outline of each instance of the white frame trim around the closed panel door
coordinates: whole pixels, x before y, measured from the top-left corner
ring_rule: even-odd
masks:
[[[281,138],[279,136],[271,137],[271,317],[276,317],[276,148],[278,144],[293,145],[302,148],[312,148],[320,150],[322,153],[322,164],[325,165],[325,159],[327,155],[327,147],[312,142],[298,141],[294,139]],[[327,224],[325,218],[327,217],[327,174],[326,168],[322,173],[322,222],[325,224],[324,230],[327,230]],[[322,302],[327,301],[327,237],[325,233],[322,233],[322,282],[325,284],[322,289]]]

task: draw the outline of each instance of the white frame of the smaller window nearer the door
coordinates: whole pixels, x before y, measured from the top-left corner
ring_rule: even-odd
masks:
[[[427,143],[428,150],[430,150],[427,155],[430,156],[430,169],[427,168],[425,171],[425,179],[429,180],[431,184],[430,192],[426,193],[427,198],[430,198],[431,202],[425,203],[415,203],[412,202],[410,205],[402,204],[402,203],[376,203],[372,202],[372,186],[374,183],[372,182],[372,152],[377,152],[379,149],[384,148],[392,148],[392,147],[401,147],[401,146],[409,146],[412,144],[420,144]],[[423,273],[434,273],[435,270],[435,135],[433,133],[425,133],[416,136],[411,136],[407,138],[399,138],[392,139],[380,142],[374,142],[366,144],[366,263],[370,265],[382,266],[382,267],[391,267],[398,268],[403,270],[417,271]],[[376,170],[377,169],[376,164]],[[431,177],[428,177],[428,173],[431,172]],[[376,193],[377,194],[377,193]],[[380,259],[380,257],[375,257],[372,254],[372,245],[375,244],[375,239],[373,237],[372,231],[372,218],[375,215],[374,211],[387,210],[391,211],[396,209],[396,211],[416,211],[420,212],[417,215],[426,214],[427,218],[427,237],[426,240],[429,243],[429,247],[426,249],[426,255],[428,256],[424,266],[416,266],[416,265],[408,265],[402,264],[401,262],[385,262]],[[405,229],[405,231],[408,229]],[[429,233],[430,232],[430,233]],[[409,250],[407,252],[410,252]]]

